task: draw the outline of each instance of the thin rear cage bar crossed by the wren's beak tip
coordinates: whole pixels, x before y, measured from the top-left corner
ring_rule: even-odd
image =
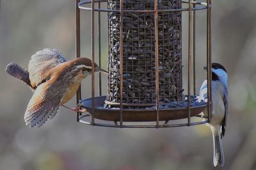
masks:
[[[98,8],[100,9],[100,2],[98,3]],[[100,12],[98,12],[98,50],[99,50],[99,67],[101,68],[101,25],[100,25]],[[101,72],[99,72],[99,95],[102,95],[101,89]]]

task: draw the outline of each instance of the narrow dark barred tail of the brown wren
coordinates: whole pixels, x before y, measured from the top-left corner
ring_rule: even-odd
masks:
[[[13,77],[20,79],[20,81],[25,82],[30,88],[34,89],[30,84],[28,70],[25,68],[22,68],[16,63],[10,63],[6,66],[5,71]]]

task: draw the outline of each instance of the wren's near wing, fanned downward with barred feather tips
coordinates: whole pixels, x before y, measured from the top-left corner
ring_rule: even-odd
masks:
[[[50,79],[36,88],[24,115],[26,125],[41,127],[45,121],[56,115],[66,93],[66,88],[60,86],[63,86],[60,81]]]

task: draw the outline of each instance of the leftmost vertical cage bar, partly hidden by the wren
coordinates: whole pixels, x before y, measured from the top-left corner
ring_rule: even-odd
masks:
[[[78,3],[80,0],[76,0],[76,58],[80,58],[80,10]],[[81,85],[76,92],[76,104],[81,100]],[[76,121],[79,121],[79,112],[76,112]]]

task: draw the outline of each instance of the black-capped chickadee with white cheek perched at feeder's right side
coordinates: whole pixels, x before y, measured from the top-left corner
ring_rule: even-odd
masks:
[[[207,70],[207,67],[204,67]],[[225,158],[223,153],[222,139],[225,135],[228,118],[228,75],[224,66],[219,63],[212,63],[212,114],[211,121],[207,125],[211,128],[213,137],[213,164],[224,166]],[[207,80],[200,88],[200,96],[207,97]],[[207,116],[207,109],[203,111]]]

